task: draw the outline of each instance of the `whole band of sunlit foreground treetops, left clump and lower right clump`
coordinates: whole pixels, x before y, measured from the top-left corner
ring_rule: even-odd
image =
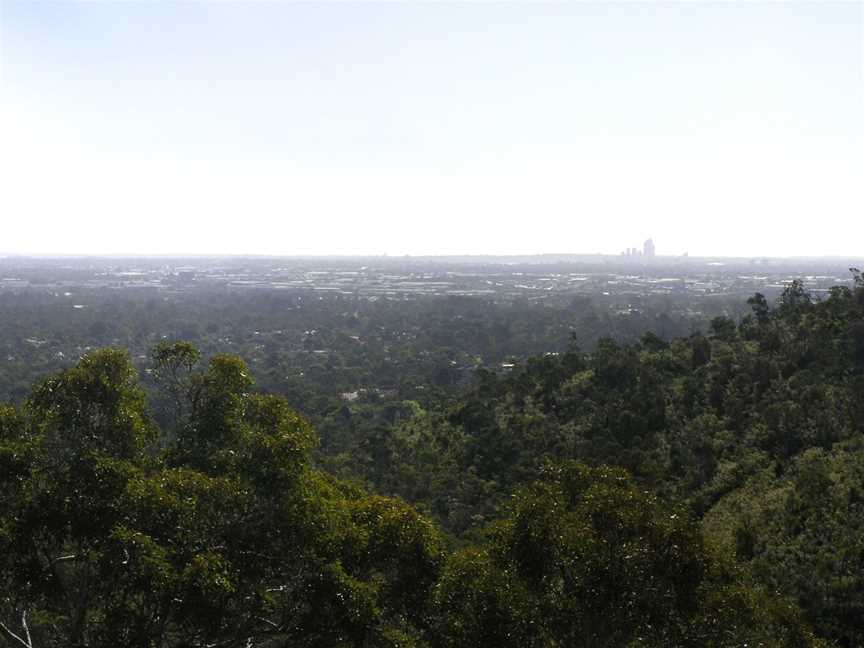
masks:
[[[188,398],[167,430],[117,349],[0,412],[8,645],[815,645],[623,470],[550,467],[452,552],[311,466],[309,425],[239,358],[155,356]]]

